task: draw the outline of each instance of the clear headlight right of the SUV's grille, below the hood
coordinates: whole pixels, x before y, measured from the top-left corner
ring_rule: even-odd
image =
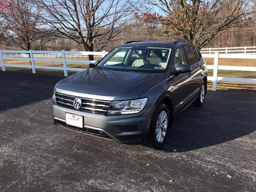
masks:
[[[127,101],[113,101],[107,112],[108,115],[133,114],[141,112],[146,105],[148,98],[127,100]]]

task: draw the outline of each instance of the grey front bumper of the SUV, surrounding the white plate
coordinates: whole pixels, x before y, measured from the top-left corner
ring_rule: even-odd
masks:
[[[148,120],[152,108],[144,108],[137,114],[104,115],[65,108],[51,102],[51,110],[54,124],[84,134],[114,139],[120,143],[137,143],[147,138]],[[66,124],[66,113],[83,116],[84,127],[78,128]]]

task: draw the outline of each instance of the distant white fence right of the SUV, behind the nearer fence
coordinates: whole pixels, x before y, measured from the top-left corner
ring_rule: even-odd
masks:
[[[214,54],[218,53],[246,53],[246,54],[256,54],[256,46],[250,47],[222,47],[222,48],[202,48],[200,50],[202,54]]]

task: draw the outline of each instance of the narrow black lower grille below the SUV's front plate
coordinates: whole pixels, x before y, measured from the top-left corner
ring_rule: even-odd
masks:
[[[72,130],[75,130],[75,131],[79,131],[79,132],[82,132],[82,133],[86,133],[86,134],[89,134],[89,135],[94,135],[94,136],[98,136],[98,137],[112,139],[107,134],[105,134],[104,132],[99,131],[99,130],[94,130],[94,129],[90,129],[90,128],[79,128],[79,127],[76,127],[76,126],[68,125],[65,122],[62,122],[62,121],[59,121],[59,120],[56,120],[56,119],[54,119],[54,123],[57,124],[57,125],[63,126],[65,128],[72,129]]]

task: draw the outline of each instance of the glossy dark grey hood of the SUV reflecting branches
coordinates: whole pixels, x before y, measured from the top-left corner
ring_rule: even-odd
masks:
[[[86,95],[107,96],[108,99],[113,100],[134,99],[143,96],[144,93],[163,79],[164,73],[90,68],[62,80],[56,86],[56,91],[67,90],[70,93],[78,92]]]

